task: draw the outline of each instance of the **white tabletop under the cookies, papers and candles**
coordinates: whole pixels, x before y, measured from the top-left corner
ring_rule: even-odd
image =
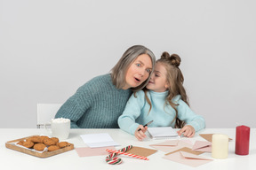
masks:
[[[152,140],[146,139],[143,142],[138,141],[133,135],[129,135],[120,129],[71,129],[68,137],[69,143],[74,143],[76,147],[86,147],[86,144],[82,141],[80,135],[84,134],[96,134],[96,133],[108,133],[112,136],[114,141],[120,143],[120,146],[116,147],[116,150],[132,144],[133,146],[139,146],[149,149],[154,149],[149,146],[152,143],[160,143],[165,140]],[[26,170],[48,170],[48,169],[61,169],[61,170],[85,170],[85,169],[206,169],[206,170],[247,170],[255,169],[256,167],[256,129],[251,129],[250,137],[250,153],[248,156],[238,156],[235,154],[235,141],[236,141],[236,129],[235,128],[209,128],[204,129],[197,133],[195,137],[191,138],[192,142],[196,140],[204,141],[199,134],[226,134],[230,138],[234,139],[233,142],[229,142],[228,146],[228,158],[226,159],[214,159],[211,153],[204,153],[202,156],[214,159],[212,162],[198,167],[185,166],[171,160],[163,158],[163,151],[156,151],[155,154],[149,156],[149,160],[141,160],[137,158],[130,158],[127,156],[120,156],[123,159],[121,165],[108,165],[105,162],[106,156],[94,156],[94,157],[82,157],[80,158],[75,150],[61,153],[49,158],[37,158],[19,151],[12,151],[5,148],[5,143],[14,139],[19,139],[29,135],[47,135],[44,129],[32,129],[32,128],[0,128],[0,168],[1,169],[26,169]]]

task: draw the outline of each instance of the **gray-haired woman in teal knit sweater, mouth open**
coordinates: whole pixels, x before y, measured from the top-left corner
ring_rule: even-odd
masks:
[[[146,86],[155,60],[151,50],[142,45],[132,46],[111,73],[95,77],[77,89],[55,118],[71,120],[71,128],[118,128],[117,119],[127,100],[132,91]]]

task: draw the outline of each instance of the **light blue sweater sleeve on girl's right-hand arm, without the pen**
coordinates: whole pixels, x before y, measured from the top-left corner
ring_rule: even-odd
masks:
[[[202,116],[193,112],[183,100],[180,99],[178,104],[177,110],[180,120],[185,121],[186,125],[191,125],[195,128],[196,132],[205,128],[205,121]]]

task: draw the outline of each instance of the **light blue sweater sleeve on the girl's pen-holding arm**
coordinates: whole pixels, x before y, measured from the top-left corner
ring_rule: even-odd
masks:
[[[123,114],[118,118],[119,128],[134,135],[135,130],[140,125],[135,120],[140,116],[140,110],[145,104],[145,101],[145,95],[142,90],[136,92],[136,97],[132,94],[125,106]]]

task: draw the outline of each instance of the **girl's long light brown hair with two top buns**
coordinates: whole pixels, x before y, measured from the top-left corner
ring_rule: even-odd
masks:
[[[186,104],[188,104],[188,96],[186,94],[186,90],[183,87],[184,77],[179,68],[180,62],[181,62],[180,56],[178,56],[177,54],[172,54],[170,56],[168,52],[163,52],[161,58],[156,61],[156,63],[161,63],[165,67],[167,72],[166,81],[169,84],[169,88],[168,88],[169,93],[165,98],[164,105],[170,104],[172,108],[175,110],[176,115],[175,115],[175,118],[172,120],[172,122],[175,120],[175,128],[183,128],[185,126],[185,122],[178,118],[177,106],[179,104],[175,104],[172,102],[173,97],[180,95],[181,99]],[[150,109],[149,109],[149,112],[150,112],[152,108],[152,104],[147,97],[147,91],[148,89],[144,89],[146,100],[150,105]]]

